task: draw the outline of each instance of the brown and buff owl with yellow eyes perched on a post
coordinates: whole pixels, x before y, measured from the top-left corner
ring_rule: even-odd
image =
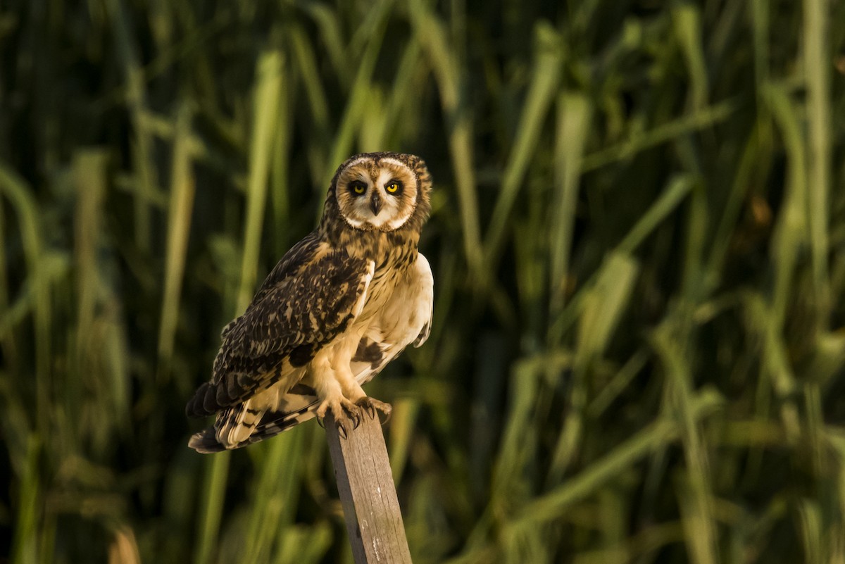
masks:
[[[186,407],[216,420],[189,447],[243,447],[329,413],[346,436],[364,411],[390,415],[362,385],[428,339],[433,276],[417,244],[430,193],[414,155],[356,155],[337,169],[319,226],[223,328],[211,380]]]

